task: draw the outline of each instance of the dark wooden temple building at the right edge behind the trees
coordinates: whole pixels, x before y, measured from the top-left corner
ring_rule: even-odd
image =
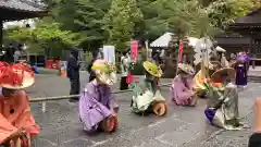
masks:
[[[215,38],[217,45],[227,50],[227,54],[244,50],[249,52],[253,61],[261,61],[261,9],[236,19],[225,34]]]

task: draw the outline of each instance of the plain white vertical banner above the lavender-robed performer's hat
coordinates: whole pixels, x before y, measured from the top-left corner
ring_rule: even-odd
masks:
[[[109,63],[115,64],[115,47],[114,46],[103,46],[103,60]]]

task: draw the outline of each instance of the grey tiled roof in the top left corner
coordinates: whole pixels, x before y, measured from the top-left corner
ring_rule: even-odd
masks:
[[[46,11],[45,4],[37,3],[34,0],[0,0],[0,9],[1,8],[29,12]]]

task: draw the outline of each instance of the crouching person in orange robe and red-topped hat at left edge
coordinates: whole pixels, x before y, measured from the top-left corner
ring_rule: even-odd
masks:
[[[3,62],[0,62],[0,145],[27,147],[30,138],[39,134],[23,90],[34,84],[34,71],[22,63]]]

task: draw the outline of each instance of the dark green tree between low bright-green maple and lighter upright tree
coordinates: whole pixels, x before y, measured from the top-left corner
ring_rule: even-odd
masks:
[[[80,47],[97,49],[105,39],[102,22],[111,0],[51,0],[52,15],[63,30],[80,35]]]

